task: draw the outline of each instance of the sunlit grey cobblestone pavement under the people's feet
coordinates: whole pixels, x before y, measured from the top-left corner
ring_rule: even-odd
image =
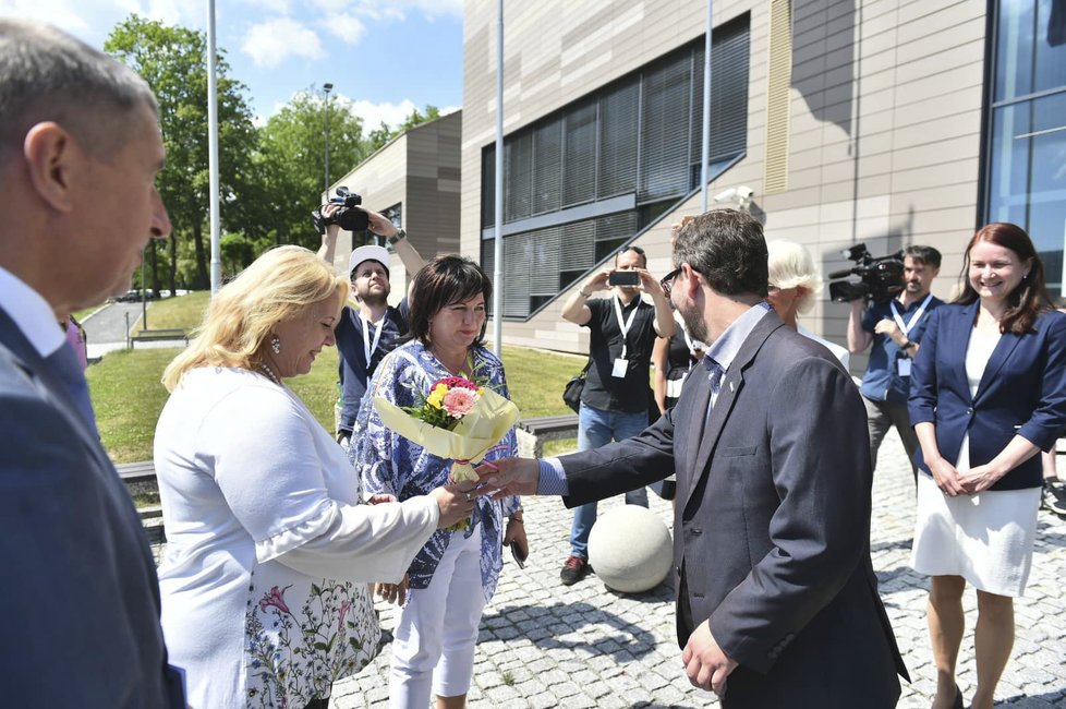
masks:
[[[650,494],[651,507],[670,526],[670,506]],[[913,682],[899,707],[929,707],[935,677],[925,630],[928,580],[909,565],[914,492],[895,431],[881,450],[873,488],[871,542],[881,594]],[[621,504],[601,503],[601,510]],[[525,501],[531,553],[525,569],[506,563],[496,597],[485,609],[470,689],[471,707],[658,708],[717,706],[689,685],[674,634],[673,592],[665,585],[640,596],[608,591],[594,576],[559,584],[569,551],[570,512],[557,497]],[[1026,598],[1016,602],[1017,639],[1000,683],[997,706],[1066,708],[1066,521],[1041,512]],[[977,682],[973,665],[976,596],[965,596],[967,635],[959,686]],[[390,606],[378,603],[381,625],[393,627]],[[336,709],[386,707],[389,650],[355,677],[334,685]]]

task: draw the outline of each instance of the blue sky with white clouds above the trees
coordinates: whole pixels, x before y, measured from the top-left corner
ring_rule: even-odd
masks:
[[[133,13],[206,33],[207,0],[0,0],[102,49]],[[262,124],[294,93],[334,85],[366,130],[462,105],[462,0],[215,0],[216,44]]]

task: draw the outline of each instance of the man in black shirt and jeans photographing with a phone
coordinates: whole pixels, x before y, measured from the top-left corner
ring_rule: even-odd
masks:
[[[614,291],[610,298],[592,298],[608,287]],[[641,290],[654,305],[644,302]],[[591,365],[578,411],[578,449],[598,448],[643,431],[649,422],[652,347],[656,336],[674,334],[670,304],[647,272],[644,250],[627,247],[617,253],[614,268],[593,274],[570,296],[562,317],[589,328]],[[626,504],[647,507],[647,492],[643,488],[627,492]],[[570,556],[559,574],[564,586],[589,573],[589,532],[594,524],[596,503],[573,510]]]

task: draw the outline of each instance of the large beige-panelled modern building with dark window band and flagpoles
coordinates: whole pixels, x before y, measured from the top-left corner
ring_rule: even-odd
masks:
[[[702,205],[706,15],[700,0],[505,3],[505,343],[586,351],[560,310],[591,269],[627,243],[673,267],[669,225]],[[1061,295],[1066,0],[717,0],[713,17],[718,204],[824,274],[859,242],[934,245],[941,297],[974,229],[1015,221]],[[489,272],[496,20],[468,0],[461,249]],[[823,292],[804,324],[843,343],[847,313]]]

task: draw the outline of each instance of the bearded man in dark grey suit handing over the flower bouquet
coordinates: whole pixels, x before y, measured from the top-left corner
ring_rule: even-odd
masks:
[[[727,709],[880,709],[907,676],[870,562],[865,411],[839,361],[765,302],[761,225],[732,209],[687,225],[663,280],[704,375],[639,436],[479,470],[497,494],[568,507],[677,473],[681,661]]]

